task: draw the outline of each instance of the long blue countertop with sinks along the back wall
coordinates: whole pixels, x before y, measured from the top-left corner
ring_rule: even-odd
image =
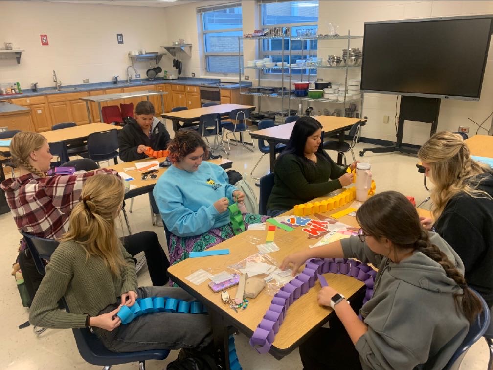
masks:
[[[157,84],[172,84],[172,85],[190,85],[190,86],[200,86],[201,84],[218,84],[221,89],[237,89],[240,87],[240,83],[235,84],[221,84],[219,79],[216,78],[196,78],[196,77],[180,77],[179,79],[163,79],[155,78],[152,81],[148,79],[132,80],[128,83],[127,81],[121,81],[117,84],[109,82],[95,82],[95,83],[83,83],[80,85],[67,85],[62,86],[60,90],[56,90],[55,87],[40,87],[37,91],[31,91],[30,88],[22,90],[23,94],[19,95],[0,95],[0,101],[6,99],[15,98],[29,98],[32,96],[43,96],[52,94],[66,94],[70,92],[80,92],[80,91],[91,91],[91,90],[101,90],[101,89],[111,89],[118,87],[130,87],[130,86],[142,86],[142,85],[157,85]],[[241,81],[241,87],[250,87],[252,83],[249,81]],[[22,107],[20,107],[22,108]]]

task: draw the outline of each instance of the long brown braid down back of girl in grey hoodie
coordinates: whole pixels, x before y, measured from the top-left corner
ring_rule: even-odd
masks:
[[[445,270],[445,274],[449,278],[454,279],[457,285],[462,289],[462,294],[453,294],[454,301],[457,309],[459,308],[459,305],[461,305],[464,316],[467,321],[472,324],[474,320],[476,320],[477,315],[481,312],[482,304],[479,298],[469,288],[467,288],[464,276],[458,271],[450,259],[447,258],[445,253],[443,253],[436,245],[431,244],[427,231],[421,231],[421,236],[416,242],[416,247],[416,249],[425,256],[439,263]],[[461,302],[459,301],[459,297],[462,297]]]

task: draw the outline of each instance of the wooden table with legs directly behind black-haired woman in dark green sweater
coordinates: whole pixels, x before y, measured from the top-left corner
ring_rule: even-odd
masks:
[[[344,133],[351,129],[354,123],[361,122],[361,126],[366,124],[366,120],[360,120],[358,118],[335,117],[332,115],[314,115],[312,117],[321,123],[325,138],[330,135],[338,134],[340,143],[344,143]],[[271,172],[274,171],[274,163],[276,162],[276,145],[287,144],[295,123],[296,122],[285,123],[283,125],[252,131],[250,133],[250,136],[253,139],[265,140],[269,143]],[[342,154],[338,153],[337,164],[342,165],[342,158]]]

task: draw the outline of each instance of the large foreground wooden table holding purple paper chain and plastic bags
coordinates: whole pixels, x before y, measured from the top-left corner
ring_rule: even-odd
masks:
[[[327,196],[319,199],[325,198]],[[351,203],[334,211],[327,212],[324,215],[328,216],[344,210]],[[292,215],[292,213],[287,212],[284,215]],[[313,216],[308,217],[313,218]],[[344,216],[339,220],[351,226],[358,227],[355,218],[352,216]],[[228,304],[224,304],[221,301],[220,293],[213,293],[211,291],[207,282],[197,286],[186,280],[185,277],[201,268],[210,268],[209,272],[216,274],[225,270],[227,266],[257,253],[256,244],[265,243],[266,233],[267,231],[265,230],[246,230],[208,249],[229,249],[229,255],[188,258],[168,268],[168,274],[171,279],[207,307],[211,315],[214,341],[226,354],[228,353],[228,326],[233,326],[246,336],[251,337],[270,306],[272,296],[263,291],[255,299],[249,299],[249,305],[246,310],[240,309],[238,312],[235,312]],[[278,228],[275,232],[275,243],[280,250],[269,253],[269,256],[274,258],[277,263],[280,263],[287,255],[304,250],[308,245],[315,244],[318,241],[318,239],[308,239],[307,235],[300,226],[295,227],[290,232]],[[359,297],[364,292],[364,289],[362,289],[364,287],[363,283],[352,277],[330,273],[324,276],[330,286],[348,297],[350,301],[352,298],[357,301],[355,296]],[[270,353],[274,357],[281,359],[283,356],[286,356],[328,321],[329,314],[333,311],[330,307],[321,307],[318,305],[317,294],[319,290],[320,285],[317,283],[307,294],[301,296],[289,307],[279,333],[276,335],[275,341],[270,349]],[[229,288],[227,291],[231,297],[234,297],[237,287]],[[229,359],[227,356],[222,361],[224,369],[229,369]]]

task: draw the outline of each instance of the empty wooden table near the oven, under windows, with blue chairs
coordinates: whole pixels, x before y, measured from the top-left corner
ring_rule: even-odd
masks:
[[[227,116],[230,111],[235,109],[247,109],[249,111],[253,111],[255,107],[242,104],[218,104],[210,107],[161,113],[161,118],[171,119],[173,122],[173,131],[176,132],[180,128],[196,125],[202,114],[219,113],[221,117],[224,117]],[[179,122],[182,122],[183,125],[180,125]]]

